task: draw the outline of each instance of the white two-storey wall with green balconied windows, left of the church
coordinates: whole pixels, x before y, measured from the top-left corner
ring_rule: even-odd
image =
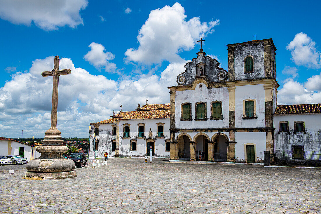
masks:
[[[156,123],[164,123],[164,138],[157,138]],[[129,138],[123,138],[124,125],[130,124]],[[170,138],[170,119],[145,119],[145,120],[120,120],[119,125],[119,154],[120,156],[145,156],[146,154],[146,140],[145,138],[137,138],[138,123],[145,123],[144,136],[149,137],[149,131],[152,129],[152,138],[155,139],[155,155],[158,157],[169,157],[170,152],[165,152],[166,141]],[[136,151],[130,150],[130,140],[137,140]],[[157,150],[156,150],[157,149]]]

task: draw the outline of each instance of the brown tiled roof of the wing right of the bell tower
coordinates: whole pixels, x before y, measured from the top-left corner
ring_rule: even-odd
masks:
[[[278,105],[274,114],[313,114],[321,113],[321,103]]]

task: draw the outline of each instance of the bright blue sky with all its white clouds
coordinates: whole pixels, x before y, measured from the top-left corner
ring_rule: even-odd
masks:
[[[272,38],[278,104],[320,103],[320,3],[300,1],[0,0],[0,136],[43,137],[49,128],[53,56],[72,75],[59,81],[58,129],[86,137],[89,122],[138,102],[169,103],[168,86],[204,51],[228,70],[226,44]],[[167,5],[167,6],[166,6]],[[140,36],[139,36],[140,35]],[[139,36],[139,40],[137,40]]]

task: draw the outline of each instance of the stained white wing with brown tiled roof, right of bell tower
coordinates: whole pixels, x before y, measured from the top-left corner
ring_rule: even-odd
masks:
[[[320,154],[321,103],[278,105],[274,127],[275,152]]]

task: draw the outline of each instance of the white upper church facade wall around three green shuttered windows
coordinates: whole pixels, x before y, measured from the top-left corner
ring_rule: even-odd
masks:
[[[202,85],[202,87],[200,87]],[[222,101],[223,120],[210,120],[211,102]],[[178,129],[228,128],[229,127],[229,93],[227,87],[206,88],[203,83],[197,84],[195,90],[177,91],[175,98],[175,120]],[[207,120],[195,119],[195,103],[206,102]],[[192,121],[181,121],[181,103],[192,103]]]

